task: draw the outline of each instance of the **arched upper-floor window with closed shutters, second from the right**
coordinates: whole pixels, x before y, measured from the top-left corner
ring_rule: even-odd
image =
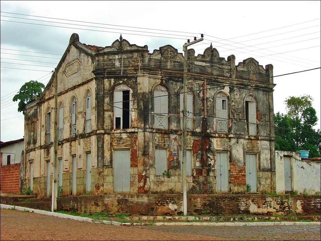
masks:
[[[216,95],[216,132],[228,132],[228,99],[223,93]]]

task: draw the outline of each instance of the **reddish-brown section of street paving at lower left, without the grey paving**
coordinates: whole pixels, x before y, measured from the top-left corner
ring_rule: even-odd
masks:
[[[228,240],[1,209],[1,240]]]

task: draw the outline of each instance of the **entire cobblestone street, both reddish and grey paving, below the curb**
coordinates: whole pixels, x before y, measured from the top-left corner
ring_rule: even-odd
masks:
[[[115,226],[1,209],[1,240],[320,240],[320,225]]]

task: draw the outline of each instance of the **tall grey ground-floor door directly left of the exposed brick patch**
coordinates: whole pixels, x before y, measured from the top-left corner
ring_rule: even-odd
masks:
[[[227,152],[216,152],[216,191],[229,190],[229,165]]]

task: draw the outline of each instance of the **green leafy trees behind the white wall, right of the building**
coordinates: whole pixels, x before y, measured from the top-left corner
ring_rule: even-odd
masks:
[[[281,151],[310,150],[309,157],[320,157],[321,133],[313,129],[318,118],[312,107],[312,97],[304,95],[285,99],[287,114],[274,116],[275,149]]]

